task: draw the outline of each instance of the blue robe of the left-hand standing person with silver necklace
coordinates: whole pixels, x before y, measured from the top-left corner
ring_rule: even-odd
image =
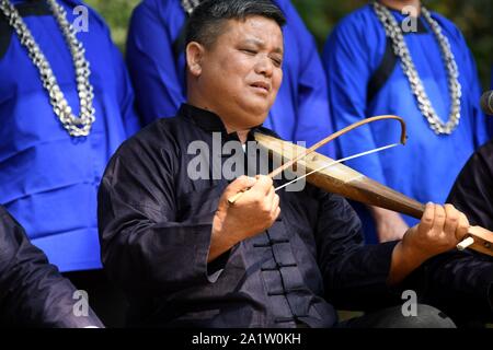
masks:
[[[72,22],[72,9],[82,3],[58,2]],[[28,11],[24,21],[78,115],[76,73],[65,38],[44,1],[28,5],[38,13]],[[0,43],[8,40],[0,47],[0,203],[61,271],[100,268],[98,187],[113,152],[138,129],[123,58],[103,20],[90,10],[89,32],[77,37],[91,65],[96,119],[89,137],[71,138],[53,110],[37,68],[3,20],[0,14]]]

